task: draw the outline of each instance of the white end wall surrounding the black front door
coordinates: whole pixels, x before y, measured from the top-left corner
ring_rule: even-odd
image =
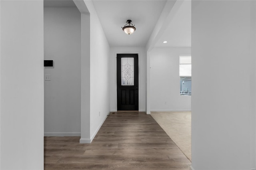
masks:
[[[146,51],[144,47],[111,47],[110,49],[110,110],[116,111],[116,54],[139,53],[139,111],[146,111]]]

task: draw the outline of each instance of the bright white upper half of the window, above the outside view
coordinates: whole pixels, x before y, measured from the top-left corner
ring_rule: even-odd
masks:
[[[180,76],[191,76],[191,55],[180,55]]]

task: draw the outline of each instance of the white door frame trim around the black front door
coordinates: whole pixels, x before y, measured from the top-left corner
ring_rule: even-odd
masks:
[[[115,80],[115,110],[117,111],[117,54],[138,54],[138,90],[139,90],[139,101],[138,101],[138,111],[140,111],[140,52],[116,52],[115,53],[115,76],[114,76],[114,80]]]

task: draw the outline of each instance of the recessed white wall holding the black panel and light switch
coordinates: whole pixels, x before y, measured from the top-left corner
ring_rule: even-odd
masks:
[[[77,8],[44,8],[45,136],[80,136],[81,14]]]

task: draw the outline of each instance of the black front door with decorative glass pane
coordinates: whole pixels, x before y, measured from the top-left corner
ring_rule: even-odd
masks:
[[[117,110],[138,111],[138,54],[117,54]]]

